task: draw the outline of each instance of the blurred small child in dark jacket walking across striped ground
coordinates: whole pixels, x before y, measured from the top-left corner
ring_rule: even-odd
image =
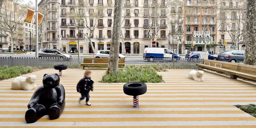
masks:
[[[84,72],[84,77],[77,83],[76,86],[76,91],[81,93],[81,98],[79,99],[79,103],[81,103],[81,100],[83,100],[86,97],[86,105],[90,106],[90,102],[89,102],[89,91],[93,91],[93,83],[94,81],[91,80],[91,71],[90,70],[86,70]]]

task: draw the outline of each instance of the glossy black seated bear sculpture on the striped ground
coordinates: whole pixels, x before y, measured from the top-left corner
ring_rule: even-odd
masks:
[[[58,74],[44,74],[43,85],[35,90],[25,114],[27,123],[34,123],[44,115],[57,119],[65,107],[65,89]]]

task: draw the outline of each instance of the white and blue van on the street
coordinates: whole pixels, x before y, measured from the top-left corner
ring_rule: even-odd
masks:
[[[154,61],[157,58],[172,58],[173,53],[166,48],[159,47],[147,47],[144,49],[143,58],[148,61]]]

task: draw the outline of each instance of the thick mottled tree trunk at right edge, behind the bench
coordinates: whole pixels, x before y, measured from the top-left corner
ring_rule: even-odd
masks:
[[[244,64],[256,65],[256,0],[247,0],[246,49]]]

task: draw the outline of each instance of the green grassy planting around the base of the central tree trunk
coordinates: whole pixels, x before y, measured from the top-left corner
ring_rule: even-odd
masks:
[[[119,69],[116,73],[110,73],[102,77],[101,83],[128,83],[132,81],[144,83],[160,83],[162,76],[149,67],[128,67]]]

